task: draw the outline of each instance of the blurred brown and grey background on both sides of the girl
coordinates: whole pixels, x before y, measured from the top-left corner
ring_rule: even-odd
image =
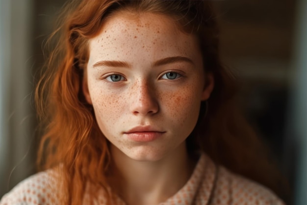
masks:
[[[307,205],[307,0],[213,0],[242,108]],[[42,46],[65,0],[0,0],[0,197],[35,173]]]

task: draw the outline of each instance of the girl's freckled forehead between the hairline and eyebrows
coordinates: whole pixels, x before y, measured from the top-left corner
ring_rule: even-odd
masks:
[[[193,56],[199,52],[195,35],[179,29],[176,19],[153,13],[120,12],[111,16],[100,33],[90,39],[90,61],[103,58],[140,58]]]

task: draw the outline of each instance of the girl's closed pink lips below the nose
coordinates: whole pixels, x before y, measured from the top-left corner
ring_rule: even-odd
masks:
[[[160,138],[164,133],[164,131],[160,131],[158,128],[151,126],[137,126],[124,132],[124,135],[126,135],[129,140],[135,142],[151,142]]]

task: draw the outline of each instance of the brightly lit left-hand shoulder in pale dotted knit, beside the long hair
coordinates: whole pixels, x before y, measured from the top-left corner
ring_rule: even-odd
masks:
[[[56,173],[48,170],[26,178],[0,200],[0,205],[55,205]]]

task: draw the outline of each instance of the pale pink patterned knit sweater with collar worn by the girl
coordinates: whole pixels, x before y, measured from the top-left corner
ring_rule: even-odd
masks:
[[[31,176],[3,196],[0,205],[57,205],[58,187],[53,171]],[[85,193],[83,205],[106,205],[105,194],[98,190],[92,201]],[[125,205],[119,198],[115,205]],[[160,205],[284,205],[270,190],[256,182],[217,167],[202,154],[192,176],[171,198]]]

